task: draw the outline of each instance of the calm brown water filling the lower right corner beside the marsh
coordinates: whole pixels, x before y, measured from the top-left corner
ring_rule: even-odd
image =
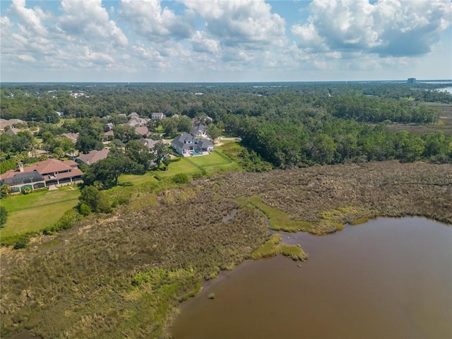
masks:
[[[173,338],[452,338],[451,226],[381,218],[284,242],[309,260],[221,273],[182,304]]]

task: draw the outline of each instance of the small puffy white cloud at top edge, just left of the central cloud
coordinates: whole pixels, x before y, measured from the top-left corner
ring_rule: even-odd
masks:
[[[162,8],[160,0],[121,0],[120,14],[139,35],[153,42],[184,39],[193,30],[189,17],[176,16],[169,8]]]

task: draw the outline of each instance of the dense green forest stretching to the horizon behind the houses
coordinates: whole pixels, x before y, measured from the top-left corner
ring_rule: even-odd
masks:
[[[6,84],[0,105],[4,119],[24,119],[31,126],[39,122],[43,138],[50,137],[44,132],[81,132],[76,148],[83,153],[102,148],[102,126],[124,123],[119,114],[212,117],[224,133],[242,138],[247,148],[243,156],[261,164],[249,169],[260,171],[391,159],[451,162],[451,136],[441,131],[391,133],[386,128],[394,123],[435,124],[440,111],[426,103],[452,102],[452,95],[438,87],[391,82]],[[75,121],[56,125],[60,116]],[[179,130],[184,129],[165,125],[167,137]],[[133,137],[126,132],[117,128],[115,138],[127,143]],[[2,139],[5,160],[16,148],[30,147],[25,132]]]

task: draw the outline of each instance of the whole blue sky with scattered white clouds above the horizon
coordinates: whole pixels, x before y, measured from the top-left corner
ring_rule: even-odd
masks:
[[[0,0],[2,82],[452,78],[451,0]]]

